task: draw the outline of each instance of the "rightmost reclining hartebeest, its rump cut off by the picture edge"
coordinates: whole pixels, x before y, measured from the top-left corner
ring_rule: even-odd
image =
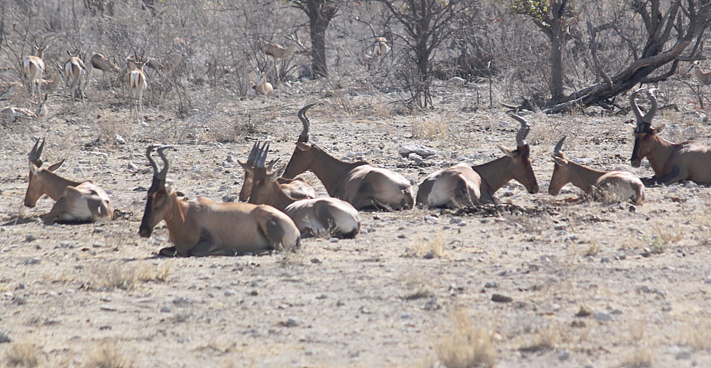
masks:
[[[691,180],[702,185],[711,184],[711,146],[697,141],[672,143],[659,136],[664,124],[652,127],[652,118],[657,112],[655,88],[647,90],[651,102],[649,112],[642,115],[635,101],[643,88],[631,94],[629,101],[636,117],[634,129],[634,148],[632,149],[631,165],[638,168],[643,158],[649,160],[654,170],[652,181],[670,185],[680,180]]]

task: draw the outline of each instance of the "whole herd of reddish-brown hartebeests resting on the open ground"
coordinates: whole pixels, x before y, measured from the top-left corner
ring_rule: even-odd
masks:
[[[140,71],[140,67],[136,70]],[[643,158],[648,158],[655,172],[653,183],[691,180],[710,184],[711,146],[695,141],[673,144],[658,136],[663,125],[651,125],[658,110],[655,90],[646,90],[645,97],[651,104],[646,114],[637,104],[644,91],[636,90],[630,97],[637,120],[631,165],[639,166]],[[241,202],[188,199],[166,179],[166,151],[173,146],[148,146],[146,158],[153,168],[153,180],[146,196],[140,236],[150,237],[156,224],[165,221],[173,246],[161,249],[159,254],[163,256],[262,254],[296,249],[302,237],[356,237],[362,210],[409,210],[415,204],[435,208],[496,203],[494,194],[512,179],[522,183],[528,193],[538,193],[526,141],[531,125],[518,115],[510,114],[520,123],[515,149],[497,145],[504,153],[501,158],[476,166],[460,163],[428,175],[419,185],[415,201],[410,180],[399,173],[365,161],[343,162],[311,141],[311,122],[306,112],[314,105],[308,104],[297,113],[303,128],[286,165],[280,165],[279,158],[267,161],[268,141],[256,142],[247,160],[239,161],[245,169]],[[597,171],[571,161],[562,151],[565,138],[553,149],[550,195],[557,195],[564,185],[572,183],[584,192],[574,202],[612,199],[644,204],[645,187],[640,178],[627,171]],[[55,171],[64,161],[43,167],[44,147],[44,139],[37,139],[28,155],[30,175],[25,205],[34,207],[45,194],[55,200],[50,212],[42,217],[45,224],[112,220],[114,209],[107,193],[89,180],[73,181],[57,175]],[[154,151],[163,161],[162,169],[152,157]],[[321,180],[329,197],[316,197],[314,188],[296,177],[305,171]]]

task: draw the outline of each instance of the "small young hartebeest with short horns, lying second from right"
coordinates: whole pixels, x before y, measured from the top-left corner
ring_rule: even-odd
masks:
[[[597,171],[569,160],[560,151],[565,136],[560,139],[553,150],[553,176],[550,178],[548,194],[558,195],[560,188],[567,183],[576,187],[593,200],[604,199],[613,195],[621,200],[630,200],[636,205],[643,205],[645,200],[642,180],[629,171]]]

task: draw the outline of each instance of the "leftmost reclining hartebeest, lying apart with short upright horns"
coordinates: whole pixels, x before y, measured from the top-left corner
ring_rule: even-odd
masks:
[[[42,144],[37,139],[30,151],[30,181],[25,195],[25,205],[35,207],[42,195],[48,195],[55,204],[47,215],[42,217],[45,224],[86,223],[96,220],[111,220],[114,217],[114,207],[109,195],[90,180],[72,181],[55,174],[65,160],[42,168]]]

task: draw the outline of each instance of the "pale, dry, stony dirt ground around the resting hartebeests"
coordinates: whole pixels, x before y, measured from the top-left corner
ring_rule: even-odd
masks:
[[[647,188],[636,208],[560,202],[580,194],[570,185],[547,194],[563,135],[569,158],[651,176],[646,161],[629,165],[631,114],[527,115],[541,190],[531,195],[512,181],[496,193],[496,210],[362,212],[356,239],[306,239],[295,254],[271,256],[161,258],[163,224],[138,237],[151,183],[147,144],[178,148],[168,174],[178,190],[220,201],[239,190],[234,161],[255,140],[272,139],[269,157],[288,161],[301,129],[296,111],[309,102],[322,102],[309,113],[321,147],[399,171],[415,191],[439,168],[498,158],[497,143],[515,147],[518,123],[503,109],[470,109],[476,87],[437,87],[437,111],[418,115],[396,114],[386,95],[324,88],[282,85],[277,97],[223,99],[188,119],[148,106],[139,123],[107,90],[73,106],[55,92],[47,119],[4,126],[0,337],[10,342],[0,344],[2,364],[711,366],[710,190]],[[656,122],[673,141],[711,142],[693,109]],[[45,226],[38,216],[50,198],[23,207],[26,155],[38,136],[47,139],[46,163],[66,158],[62,175],[107,190],[115,220]],[[439,156],[400,158],[407,142]],[[304,178],[326,194],[313,174]]]

